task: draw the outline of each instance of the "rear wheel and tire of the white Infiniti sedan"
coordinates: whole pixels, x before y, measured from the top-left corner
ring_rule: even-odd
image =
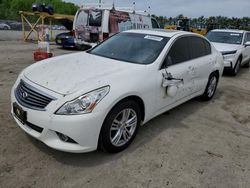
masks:
[[[217,89],[218,79],[219,79],[219,77],[215,73],[212,73],[209,76],[205,92],[201,96],[201,99],[203,101],[209,101],[213,98],[213,96],[216,92],[216,89]]]

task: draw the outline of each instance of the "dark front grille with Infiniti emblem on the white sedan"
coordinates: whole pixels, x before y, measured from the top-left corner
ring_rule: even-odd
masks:
[[[55,99],[54,97],[30,86],[23,80],[21,80],[17,86],[15,96],[21,105],[35,110],[44,110],[45,107]]]

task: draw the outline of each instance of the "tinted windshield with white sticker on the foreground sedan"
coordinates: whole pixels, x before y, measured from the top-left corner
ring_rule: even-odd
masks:
[[[104,41],[89,53],[136,64],[153,63],[169,38],[138,33],[120,33]]]

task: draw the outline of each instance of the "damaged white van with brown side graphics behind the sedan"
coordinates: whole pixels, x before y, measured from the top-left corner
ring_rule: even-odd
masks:
[[[77,45],[90,47],[118,32],[152,28],[159,28],[159,24],[149,15],[103,7],[80,8],[73,25]]]

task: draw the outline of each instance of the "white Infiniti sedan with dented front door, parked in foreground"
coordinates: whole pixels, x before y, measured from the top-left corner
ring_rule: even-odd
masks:
[[[200,35],[130,30],[26,68],[11,113],[57,150],[119,152],[150,119],[197,96],[210,100],[222,72],[221,53]]]

